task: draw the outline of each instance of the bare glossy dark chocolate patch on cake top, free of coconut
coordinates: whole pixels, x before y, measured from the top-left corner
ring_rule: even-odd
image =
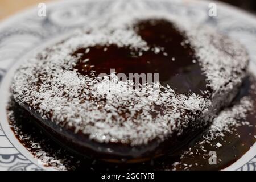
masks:
[[[176,93],[202,94],[207,90],[195,51],[171,22],[141,20],[134,24],[134,30],[146,41],[147,51],[114,44],[80,48],[72,53],[79,57],[74,69],[89,76],[109,75],[110,69],[114,69],[116,73],[125,73],[127,78],[129,73],[159,73],[159,82],[163,86],[168,84]]]

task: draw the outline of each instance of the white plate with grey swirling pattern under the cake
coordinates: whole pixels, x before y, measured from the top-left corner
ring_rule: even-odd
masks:
[[[209,3],[198,0],[57,1],[47,4],[46,17],[39,17],[38,8],[34,7],[0,23],[0,169],[51,169],[38,163],[38,160],[19,143],[7,123],[6,104],[15,69],[31,53],[76,28],[86,26],[88,22],[108,14],[109,11],[152,9],[168,11],[179,16],[188,14],[191,21],[213,26],[245,44],[250,54],[250,69],[256,73],[256,16],[215,2],[217,17],[210,17]],[[241,159],[225,169],[256,170],[256,144]]]

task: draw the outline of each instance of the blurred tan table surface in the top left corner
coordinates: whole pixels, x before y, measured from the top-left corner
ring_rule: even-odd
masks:
[[[30,6],[37,6],[38,3],[50,0],[0,0],[0,20],[18,13]]]

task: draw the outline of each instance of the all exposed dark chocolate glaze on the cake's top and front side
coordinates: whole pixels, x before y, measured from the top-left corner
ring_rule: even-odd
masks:
[[[78,63],[73,69],[82,75],[92,77],[99,73],[109,74],[111,68],[115,68],[117,73],[126,75],[128,73],[159,73],[161,84],[169,84],[176,93],[203,94],[201,91],[208,90],[206,77],[197,61],[195,51],[187,42],[183,32],[176,30],[172,23],[166,20],[144,20],[135,24],[134,30],[150,47],[148,51],[142,51],[142,55],[140,55],[140,50],[117,47],[113,44],[89,47],[88,53],[85,53],[87,47],[80,48],[72,53],[78,59]],[[159,53],[152,51],[152,48],[155,47],[161,47]],[[85,62],[86,59],[89,61]],[[187,129],[184,129],[179,136],[174,131],[172,136],[164,141],[156,138],[148,144],[131,147],[130,144],[121,142],[95,142],[82,131],[75,133],[74,128],[63,126],[63,123],[57,125],[51,120],[51,111],[48,113],[48,119],[42,119],[40,114],[36,113],[36,109],[30,109],[33,105],[31,107],[22,105],[22,107],[34,115],[36,118],[34,121],[40,129],[46,131],[49,137],[72,152],[112,162],[121,162],[122,160],[129,163],[141,162],[174,152],[204,129],[203,126],[195,127],[201,123],[200,121],[189,122]],[[160,107],[159,109],[164,109],[164,107]],[[192,112],[188,110],[185,114],[195,115]],[[128,109],[125,114],[129,114]],[[120,117],[125,114],[121,113]],[[154,117],[154,113],[152,115]]]

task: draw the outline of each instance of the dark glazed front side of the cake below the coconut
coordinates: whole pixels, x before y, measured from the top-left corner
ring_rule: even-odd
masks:
[[[23,105],[22,107],[35,118],[32,120],[35,122],[35,126],[69,151],[76,155],[114,163],[138,163],[157,158],[167,152],[174,152],[203,130],[203,127],[197,128],[191,124],[183,131],[182,135],[178,136],[177,133],[173,133],[172,137],[164,141],[155,139],[148,144],[133,147],[130,144],[120,142],[99,143],[89,139],[88,135],[85,135],[82,131],[75,134],[75,129],[72,127],[62,128],[49,119],[42,121],[38,113],[30,110],[27,106]]]

